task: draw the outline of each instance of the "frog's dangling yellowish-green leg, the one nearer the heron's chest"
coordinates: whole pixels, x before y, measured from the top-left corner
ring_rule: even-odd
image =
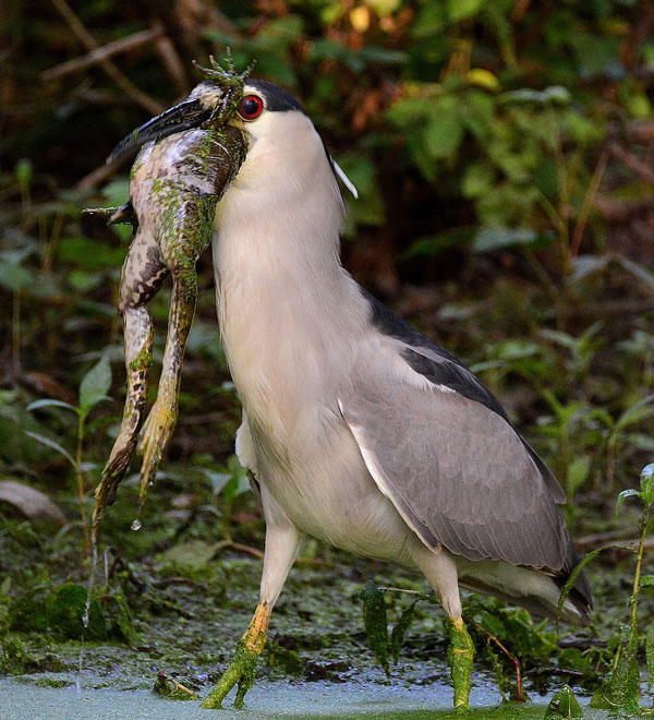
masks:
[[[138,446],[138,453],[143,455],[142,504],[177,422],[182,361],[197,300],[195,264],[210,239],[210,231],[205,225],[201,220],[199,208],[187,207],[182,227],[171,228],[161,242],[161,252],[172,276],[172,295],[157,399],[143,425]]]

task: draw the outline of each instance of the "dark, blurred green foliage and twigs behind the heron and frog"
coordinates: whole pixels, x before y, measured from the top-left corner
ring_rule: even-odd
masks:
[[[75,477],[88,511],[122,406],[113,300],[129,230],[80,211],[126,199],[128,168],[105,157],[187,94],[193,59],[226,46],[302,99],[361,194],[346,265],[498,395],[566,488],[580,549],[635,538],[639,508],[619,519],[614,509],[654,456],[651,2],[5,0],[0,22],[0,476],[55,499],[64,513],[55,525],[65,523],[52,541],[24,523],[34,501],[2,485],[11,602],[83,577]],[[128,535],[136,490],[124,483],[106,523],[114,559],[143,563],[220,538],[207,562],[228,542],[261,547],[232,457],[239,405],[208,257],[199,268],[169,461],[147,533]],[[165,292],[153,312],[160,359]],[[83,405],[77,388],[100,358],[113,400],[89,407],[83,424],[61,407],[27,409],[43,398]],[[52,547],[56,559],[44,552]],[[645,541],[644,573],[651,550]],[[339,557],[315,544],[304,554]],[[613,550],[591,572],[600,626],[609,608],[626,617],[629,583],[611,568],[630,556]],[[574,672],[602,669],[595,640],[574,646]]]

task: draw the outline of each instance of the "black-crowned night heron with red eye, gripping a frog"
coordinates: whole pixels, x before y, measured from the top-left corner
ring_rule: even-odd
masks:
[[[203,83],[150,132],[202,122]],[[421,571],[449,619],[455,706],[473,646],[459,588],[556,613],[578,560],[565,494],[491,392],[343,269],[339,168],[299,103],[246,81],[234,124],[250,148],[216,211],[220,332],[243,404],[239,459],[261,494],[261,598],[206,707],[252,684],[303,533]],[[585,623],[583,576],[562,619]]]

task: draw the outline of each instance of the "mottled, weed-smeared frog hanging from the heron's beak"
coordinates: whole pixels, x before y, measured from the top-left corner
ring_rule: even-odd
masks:
[[[197,297],[195,264],[209,244],[216,205],[246,152],[242,131],[211,124],[148,143],[132,169],[130,193],[137,229],[123,264],[118,303],[124,320],[128,394],[120,432],[96,489],[96,530],[138,442],[153,352],[147,302],[169,274],[172,297],[164,367],[138,446],[141,503],[177,421],[181,365]]]

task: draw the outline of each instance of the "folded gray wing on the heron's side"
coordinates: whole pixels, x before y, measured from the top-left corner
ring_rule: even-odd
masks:
[[[569,573],[574,550],[545,466],[504,411],[470,397],[491,393],[451,356],[426,357],[397,337],[367,350],[341,413],[379,490],[423,542]]]

